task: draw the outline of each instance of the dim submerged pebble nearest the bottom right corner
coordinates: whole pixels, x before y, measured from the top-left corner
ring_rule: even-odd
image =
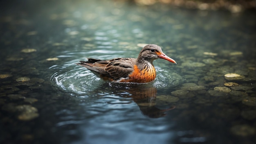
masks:
[[[243,137],[255,135],[255,127],[252,127],[248,124],[235,125],[231,127],[230,131],[234,135],[243,136]]]

